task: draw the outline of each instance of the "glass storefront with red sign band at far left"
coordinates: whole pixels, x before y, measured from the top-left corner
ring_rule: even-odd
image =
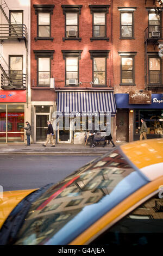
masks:
[[[24,143],[25,113],[26,90],[0,91],[0,143]]]

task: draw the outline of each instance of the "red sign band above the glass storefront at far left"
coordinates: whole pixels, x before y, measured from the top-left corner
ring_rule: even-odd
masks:
[[[0,90],[0,102],[26,102],[26,90]]]

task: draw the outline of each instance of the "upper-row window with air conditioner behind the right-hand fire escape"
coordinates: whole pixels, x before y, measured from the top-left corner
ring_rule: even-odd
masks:
[[[161,14],[159,12],[148,12],[149,38],[160,38],[160,21]]]

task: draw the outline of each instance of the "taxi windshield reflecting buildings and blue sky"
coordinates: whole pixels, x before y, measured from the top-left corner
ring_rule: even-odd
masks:
[[[67,243],[66,239],[63,243],[60,240],[65,234],[71,241],[83,227],[89,227],[137,190],[135,184],[141,187],[146,183],[147,180],[128,165],[118,150],[112,151],[53,185],[32,203],[15,244]]]

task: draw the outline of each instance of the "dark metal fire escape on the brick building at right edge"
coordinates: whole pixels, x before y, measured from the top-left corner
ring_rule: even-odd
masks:
[[[145,0],[146,4],[147,0]],[[153,0],[153,4],[155,4],[156,0]],[[162,0],[157,0],[159,2],[160,7],[162,7]],[[160,14],[160,7],[153,8],[156,15]],[[161,17],[161,16],[160,16]],[[153,22],[153,23],[152,23]],[[161,18],[160,23],[157,21],[152,21],[150,24],[148,21],[148,27],[145,29],[145,89],[146,90],[153,90],[155,93],[163,88],[163,81],[162,81],[162,57],[158,54],[163,48],[163,29],[161,27]],[[150,49],[153,48],[153,52],[151,50],[148,52],[148,46]],[[153,46],[151,48],[151,46]],[[156,48],[158,51],[156,51]],[[162,51],[163,53],[163,51]],[[151,55],[150,55],[151,54]],[[156,57],[160,59],[160,69],[159,68],[150,68],[149,65],[149,56]],[[163,56],[163,54],[162,54]]]

